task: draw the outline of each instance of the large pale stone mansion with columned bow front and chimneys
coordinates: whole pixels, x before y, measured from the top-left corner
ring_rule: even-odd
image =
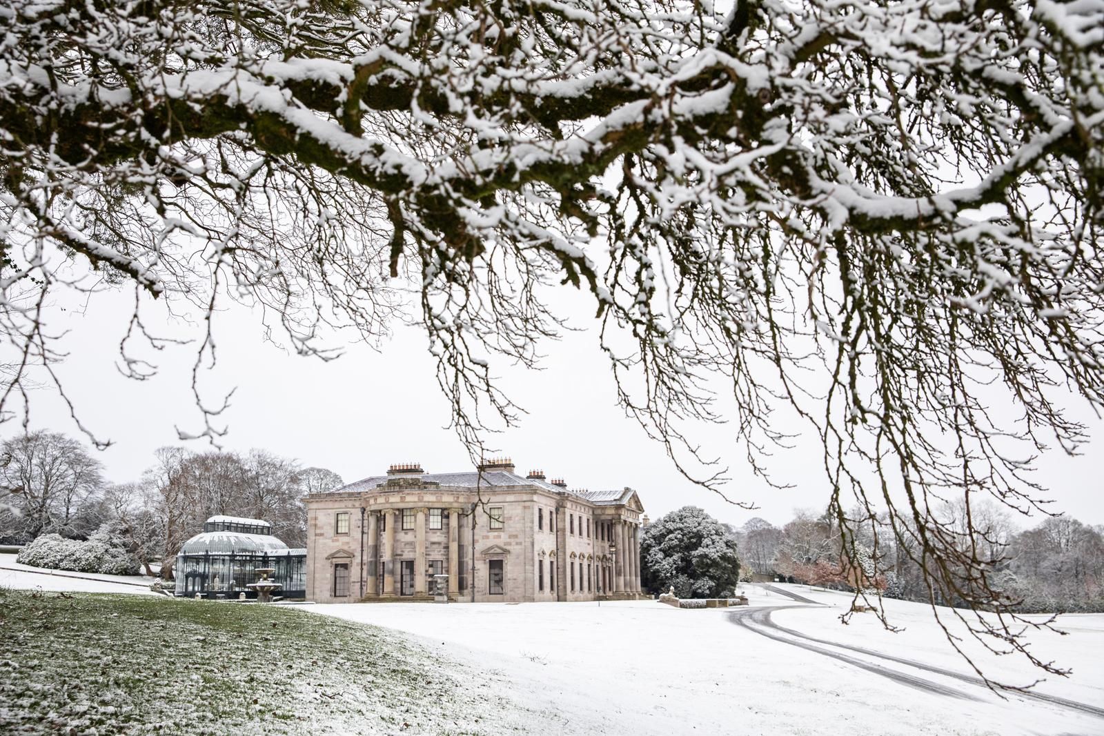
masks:
[[[307,599],[552,601],[640,595],[634,490],[567,490],[509,460],[476,471],[392,466],[307,505]]]

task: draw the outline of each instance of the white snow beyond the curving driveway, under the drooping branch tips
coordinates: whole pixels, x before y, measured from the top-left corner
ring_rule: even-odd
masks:
[[[894,657],[915,660],[963,674],[974,674],[969,665],[955,652],[951,642],[940,629],[932,607],[906,600],[884,599],[883,605],[889,622],[901,629],[889,631],[873,614],[856,614],[847,626],[839,616],[847,611],[853,599],[849,593],[822,590],[804,585],[778,585],[827,607],[808,606],[777,611],[775,623],[819,639],[862,647]],[[1058,619],[1057,628],[1068,636],[1051,631],[1032,631],[1028,634],[1031,652],[1043,662],[1053,662],[1063,670],[1072,670],[1069,676],[1047,674],[1033,668],[1022,654],[996,658],[985,652],[985,648],[974,640],[965,626],[954,614],[942,608],[944,623],[962,638],[959,646],[972,658],[977,658],[981,671],[1004,684],[1022,686],[1041,678],[1032,692],[1064,697],[1080,703],[1104,707],[1104,615],[1064,614]],[[963,611],[967,621],[973,614]],[[1045,621],[1049,616],[1027,616],[1032,621]],[[999,646],[1000,642],[992,642]],[[1006,647],[1007,648],[1007,647]],[[1096,733],[1104,733],[1104,721]]]

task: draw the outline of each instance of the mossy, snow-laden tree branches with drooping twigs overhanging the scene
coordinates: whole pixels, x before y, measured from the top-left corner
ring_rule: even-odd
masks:
[[[478,454],[519,410],[495,359],[535,364],[572,285],[688,477],[721,489],[691,429],[720,377],[757,470],[773,413],[819,436],[845,552],[866,524],[1001,611],[934,510],[1037,506],[1031,454],[1084,439],[1057,402],[1104,403],[1102,0],[14,0],[0,28],[9,414],[79,256],[321,356],[413,295]]]

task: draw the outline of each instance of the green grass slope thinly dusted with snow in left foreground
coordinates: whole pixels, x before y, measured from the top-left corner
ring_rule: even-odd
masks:
[[[288,607],[0,590],[3,734],[502,733],[474,674]]]

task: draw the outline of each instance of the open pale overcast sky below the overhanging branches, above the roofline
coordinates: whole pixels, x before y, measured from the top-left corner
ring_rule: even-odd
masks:
[[[176,427],[198,429],[190,393],[194,348],[170,348],[156,355],[161,374],[137,383],[119,375],[118,342],[129,316],[129,294],[94,296],[87,309],[70,306],[55,329],[71,330],[71,354],[60,373],[82,419],[113,447],[98,452],[112,481],[137,479],[151,465],[152,452],[181,445]],[[586,307],[588,310],[588,307]],[[156,313],[151,312],[152,314]],[[166,318],[158,321],[166,331]],[[583,317],[576,327],[590,328]],[[225,415],[226,449],[264,448],[338,472],[347,482],[385,471],[393,462],[421,462],[429,472],[468,469],[467,454],[445,428],[448,406],[438,393],[434,364],[424,337],[403,328],[379,352],[353,344],[333,362],[287,354],[262,340],[256,314],[232,308],[219,316],[219,365],[206,374],[209,387],[235,387]],[[543,469],[572,488],[631,487],[655,519],[686,504],[704,508],[722,521],[742,524],[753,515],[785,523],[795,508],[821,509],[828,493],[815,444],[779,450],[775,479],[794,486],[775,490],[752,474],[744,451],[728,440],[725,428],[712,433],[725,454],[732,497],[754,502],[758,511],[732,506],[683,479],[657,444],[616,406],[611,370],[593,332],[566,335],[544,345],[541,372],[509,372],[503,385],[528,409],[521,426],[497,438],[519,472]],[[147,351],[148,353],[149,351]],[[215,403],[217,391],[209,391]],[[77,434],[67,410],[43,388],[32,398],[32,428]],[[18,428],[3,427],[10,435]],[[1094,420],[1093,434],[1100,435]],[[185,444],[197,450],[205,440]],[[1052,489],[1054,508],[1086,523],[1104,522],[1097,448],[1068,458],[1044,457],[1040,477]],[[1018,520],[1020,525],[1033,522]]]

